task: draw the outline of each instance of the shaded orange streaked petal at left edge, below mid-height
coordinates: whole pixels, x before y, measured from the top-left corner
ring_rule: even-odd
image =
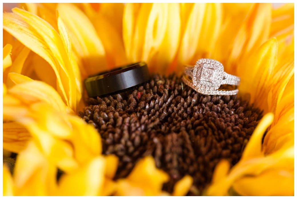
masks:
[[[16,122],[3,123],[3,148],[5,150],[20,153],[30,138],[31,136],[24,126]]]

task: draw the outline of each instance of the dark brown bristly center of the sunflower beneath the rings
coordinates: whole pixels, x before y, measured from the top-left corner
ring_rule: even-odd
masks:
[[[189,174],[194,182],[188,195],[200,195],[221,159],[239,161],[262,117],[236,95],[199,94],[174,74],[156,74],[130,93],[90,98],[79,115],[97,128],[103,153],[119,157],[115,179],[151,155],[170,175],[163,187],[168,192]]]

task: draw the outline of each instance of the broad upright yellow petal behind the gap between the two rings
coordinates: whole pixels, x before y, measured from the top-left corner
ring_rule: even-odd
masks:
[[[154,73],[171,72],[174,70],[172,67],[169,68],[169,65],[173,62],[180,43],[181,19],[179,15],[176,15],[176,13],[180,12],[180,6],[179,4],[173,3],[165,4],[164,6],[165,9],[160,8],[163,10],[161,13],[157,14],[152,10],[152,13],[154,14],[151,13],[148,27],[146,29],[143,56],[148,56],[148,58],[146,59],[143,57],[143,60],[146,60],[150,67],[150,71],[153,71]],[[166,12],[164,10],[166,10]],[[162,28],[155,24],[161,24],[159,26],[163,26],[163,23],[165,32],[162,37],[162,34],[160,33]]]

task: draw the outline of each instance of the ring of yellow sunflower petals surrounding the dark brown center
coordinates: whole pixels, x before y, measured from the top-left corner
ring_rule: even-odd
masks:
[[[19,7],[3,13],[3,148],[17,154],[3,165],[4,195],[294,195],[293,4]],[[172,176],[151,156],[115,178],[121,160],[78,116],[89,104],[83,80],[140,60],[178,76],[199,58],[239,76],[238,97],[263,113],[243,120],[257,126],[240,160],[222,158],[202,192],[191,175],[165,191]]]

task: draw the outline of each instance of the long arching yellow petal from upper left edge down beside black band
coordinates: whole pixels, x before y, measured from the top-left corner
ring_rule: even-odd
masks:
[[[21,9],[4,13],[4,29],[39,54],[52,66],[57,76],[57,89],[63,101],[76,110],[77,81],[58,33],[44,20]],[[23,31],[19,31],[22,27]],[[67,92],[66,92],[67,91]]]

